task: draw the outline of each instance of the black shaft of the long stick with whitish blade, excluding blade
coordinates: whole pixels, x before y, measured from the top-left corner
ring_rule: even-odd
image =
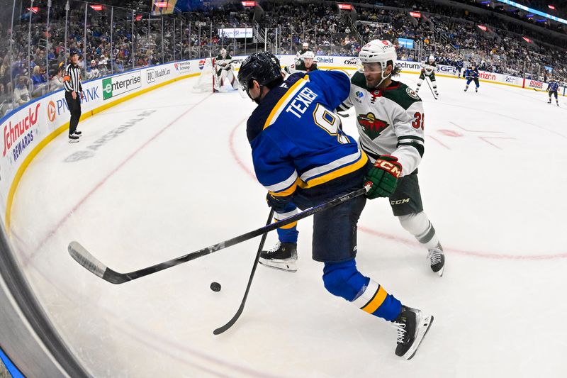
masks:
[[[148,274],[153,274],[164,269],[168,269],[170,267],[175,267],[176,265],[183,264],[184,262],[188,262],[191,260],[195,260],[198,257],[203,257],[206,255],[210,255],[210,253],[218,252],[219,250],[223,250],[228,248],[232,245],[236,245],[242,243],[246,240],[256,238],[259,235],[264,233],[269,233],[270,231],[275,230],[276,228],[280,228],[281,226],[286,226],[289,223],[293,223],[299,221],[300,219],[307,218],[308,216],[313,215],[314,213],[318,213],[319,211],[323,211],[326,209],[330,209],[335,207],[339,204],[348,201],[349,199],[353,199],[358,196],[362,196],[366,193],[366,188],[360,188],[355,191],[351,191],[348,194],[344,194],[343,196],[337,197],[336,199],[332,199],[331,201],[325,202],[325,204],[320,204],[318,206],[314,206],[310,209],[302,211],[301,213],[297,213],[296,215],[290,216],[286,219],[278,221],[276,223],[271,223],[267,226],[262,228],[258,228],[257,230],[249,231],[247,233],[243,233],[242,235],[236,236],[235,238],[225,240],[223,242],[210,245],[206,248],[202,248],[201,250],[197,250],[195,252],[191,252],[187,255],[176,257],[172,260],[161,262],[156,265],[152,265],[151,267],[147,267],[140,270],[135,270],[134,272],[130,273],[118,273],[113,271],[110,268],[106,268],[105,272],[102,275],[103,279],[106,279],[108,282],[112,282],[113,284],[122,284],[124,282],[132,281],[133,279],[138,279],[140,277],[147,276]],[[80,263],[80,262],[79,262]],[[83,264],[84,265],[84,264]]]

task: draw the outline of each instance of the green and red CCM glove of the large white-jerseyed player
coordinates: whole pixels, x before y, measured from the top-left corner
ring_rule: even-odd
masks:
[[[369,199],[391,196],[398,185],[400,174],[402,165],[398,162],[398,157],[382,155],[366,173],[364,181],[366,185],[371,185],[366,196]]]

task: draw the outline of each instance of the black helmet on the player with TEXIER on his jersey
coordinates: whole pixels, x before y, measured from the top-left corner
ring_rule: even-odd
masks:
[[[256,80],[261,87],[270,88],[270,84],[280,82],[282,79],[279,60],[271,52],[256,52],[250,55],[242,62],[238,71],[238,82],[246,92],[252,80]]]

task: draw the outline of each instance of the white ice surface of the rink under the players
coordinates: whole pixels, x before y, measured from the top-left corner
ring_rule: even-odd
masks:
[[[416,75],[404,76],[415,87]],[[425,211],[444,276],[386,200],[359,223],[361,272],[435,322],[410,361],[396,332],[325,291],[299,224],[298,272],[259,267],[236,325],[259,238],[113,285],[67,253],[78,240],[128,272],[263,226],[236,92],[192,94],[186,79],[79,124],[23,175],[11,240],[51,321],[95,377],[559,377],[567,369],[567,107],[545,93],[439,78],[422,86]],[[356,135],[354,117],[344,128]],[[121,130],[115,133],[113,130]],[[90,152],[86,154],[85,152]],[[89,157],[86,157],[89,155]],[[80,159],[83,157],[82,159]],[[269,235],[266,246],[276,241]],[[220,292],[210,290],[219,282]]]

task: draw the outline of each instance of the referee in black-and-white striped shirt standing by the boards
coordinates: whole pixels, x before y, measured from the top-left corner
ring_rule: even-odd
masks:
[[[65,67],[63,74],[63,85],[65,87],[65,100],[71,113],[69,121],[69,143],[79,141],[81,131],[77,130],[79,118],[81,118],[81,99],[84,97],[83,86],[81,85],[81,68],[79,62],[79,50],[71,50],[71,62]]]

